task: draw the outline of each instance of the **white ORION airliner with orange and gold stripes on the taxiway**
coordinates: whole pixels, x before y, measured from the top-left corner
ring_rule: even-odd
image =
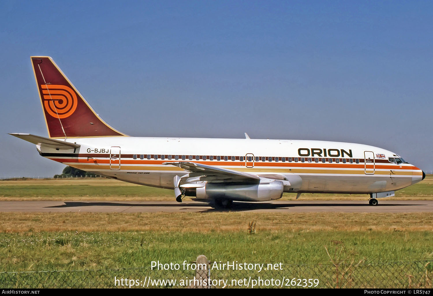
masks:
[[[105,177],[174,189],[182,196],[235,201],[279,199],[283,192],[364,193],[369,204],[425,178],[397,153],[369,145],[217,138],[131,137],[90,107],[50,57],[31,57],[48,138],[13,133],[39,154]]]

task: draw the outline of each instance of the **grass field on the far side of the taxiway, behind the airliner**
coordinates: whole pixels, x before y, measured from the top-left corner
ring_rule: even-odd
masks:
[[[295,199],[296,193],[284,193],[283,200]],[[0,181],[2,200],[173,200],[173,190],[140,186],[110,179],[70,180],[24,180]],[[366,194],[322,194],[304,193],[301,199],[356,200],[368,199]],[[398,190],[395,197],[388,199],[433,199],[433,176],[413,186]]]

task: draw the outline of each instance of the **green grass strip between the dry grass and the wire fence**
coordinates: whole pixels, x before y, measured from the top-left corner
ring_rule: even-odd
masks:
[[[211,261],[294,262],[432,258],[432,232],[26,232],[0,234],[2,271],[75,270]]]

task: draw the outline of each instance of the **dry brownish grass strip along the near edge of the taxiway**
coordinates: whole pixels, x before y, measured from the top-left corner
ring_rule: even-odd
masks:
[[[433,232],[433,213],[17,213],[1,212],[0,232]]]

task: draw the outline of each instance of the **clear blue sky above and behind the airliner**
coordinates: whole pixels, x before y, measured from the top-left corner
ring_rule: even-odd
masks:
[[[1,1],[0,177],[64,167],[30,55],[135,136],[357,142],[433,170],[431,1]]]

